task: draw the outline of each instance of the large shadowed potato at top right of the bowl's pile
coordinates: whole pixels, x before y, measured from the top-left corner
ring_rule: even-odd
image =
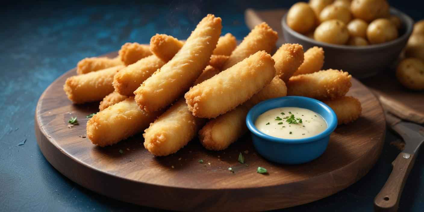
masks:
[[[386,0],[353,0],[350,10],[355,18],[367,22],[387,17],[390,14],[389,4]]]

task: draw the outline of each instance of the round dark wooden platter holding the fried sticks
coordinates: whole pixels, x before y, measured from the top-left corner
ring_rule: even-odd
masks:
[[[75,69],[68,71],[41,95],[34,122],[37,142],[59,172],[83,187],[121,201],[182,211],[258,211],[296,206],[358,181],[373,167],[383,146],[382,107],[368,88],[352,79],[348,95],[360,99],[361,117],[339,126],[324,154],[307,164],[266,161],[256,153],[250,134],[224,151],[207,151],[194,139],[165,157],[149,153],[142,134],[100,148],[85,138],[86,115],[98,112],[98,102],[73,105],[63,91],[66,78],[75,74]],[[68,128],[67,121],[75,116],[79,125]],[[240,152],[245,164],[237,161]],[[258,166],[269,174],[257,173]]]

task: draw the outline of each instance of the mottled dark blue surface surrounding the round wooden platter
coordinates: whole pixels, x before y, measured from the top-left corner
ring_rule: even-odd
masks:
[[[125,42],[147,43],[155,33],[185,39],[207,13],[223,19],[223,33],[231,32],[237,39],[243,39],[249,32],[244,24],[245,8],[287,8],[293,2],[2,3],[0,211],[156,210],[95,194],[57,172],[40,152],[34,136],[33,116],[39,96],[84,57],[116,51]],[[423,18],[422,11],[417,9],[422,7],[412,1],[391,4],[415,20]],[[17,146],[25,139],[24,145]],[[394,139],[388,132],[375,167],[351,187],[320,201],[282,211],[372,211],[374,196],[388,178],[390,163],[399,153],[388,145]],[[418,156],[410,173],[400,203],[402,211],[418,212],[424,208],[423,161],[424,157]]]

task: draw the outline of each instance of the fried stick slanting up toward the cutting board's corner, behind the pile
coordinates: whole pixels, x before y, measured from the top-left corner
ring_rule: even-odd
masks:
[[[256,25],[255,28],[253,28],[252,31],[245,36],[243,42],[241,42],[240,45],[238,45],[231,53],[230,58],[226,61],[222,70],[232,67],[236,63],[254,53],[257,53],[258,51],[264,50],[267,53],[271,53],[275,47],[277,39],[277,32],[273,31],[268,24],[263,22]]]

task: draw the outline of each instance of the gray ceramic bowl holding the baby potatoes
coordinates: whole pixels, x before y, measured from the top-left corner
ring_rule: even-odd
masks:
[[[365,78],[390,67],[398,58],[412,33],[414,21],[409,16],[394,8],[390,9],[390,13],[399,17],[402,22],[400,36],[391,42],[382,44],[354,47],[318,42],[288,27],[287,14],[282,19],[283,35],[287,43],[298,43],[303,46],[304,50],[313,46],[323,47],[325,51],[323,69],[341,69],[348,71],[356,78]]]

